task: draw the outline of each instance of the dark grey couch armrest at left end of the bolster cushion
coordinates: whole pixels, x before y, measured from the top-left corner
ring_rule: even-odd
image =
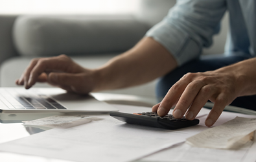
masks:
[[[17,56],[12,40],[12,27],[17,16],[0,16],[0,64],[7,58]]]

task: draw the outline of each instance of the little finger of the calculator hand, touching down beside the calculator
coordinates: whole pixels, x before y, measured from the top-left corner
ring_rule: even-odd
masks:
[[[218,117],[220,117],[222,111],[227,106],[227,103],[227,96],[224,95],[224,93],[220,93],[220,95],[218,95],[216,98],[215,104],[207,116],[207,119],[205,120],[206,126],[213,126],[213,124],[215,124]]]

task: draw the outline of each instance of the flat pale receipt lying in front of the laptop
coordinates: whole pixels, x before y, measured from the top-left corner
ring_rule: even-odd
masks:
[[[32,126],[49,130],[51,128],[71,128],[91,121],[98,121],[98,117],[89,117],[87,115],[56,115],[36,119],[34,121],[23,121],[25,126]]]

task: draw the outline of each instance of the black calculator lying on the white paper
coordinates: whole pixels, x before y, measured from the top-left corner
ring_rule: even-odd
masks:
[[[165,115],[164,117],[159,117],[156,112],[143,112],[132,114],[111,111],[110,116],[118,119],[119,121],[127,122],[129,124],[151,126],[168,130],[176,130],[179,128],[194,126],[199,123],[198,119],[194,119],[192,121],[185,119],[185,117],[182,117],[181,119],[175,119],[170,114]]]

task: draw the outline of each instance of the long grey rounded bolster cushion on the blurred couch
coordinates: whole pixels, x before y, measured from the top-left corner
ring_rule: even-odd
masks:
[[[123,52],[148,29],[132,16],[19,16],[14,43],[27,56]]]

